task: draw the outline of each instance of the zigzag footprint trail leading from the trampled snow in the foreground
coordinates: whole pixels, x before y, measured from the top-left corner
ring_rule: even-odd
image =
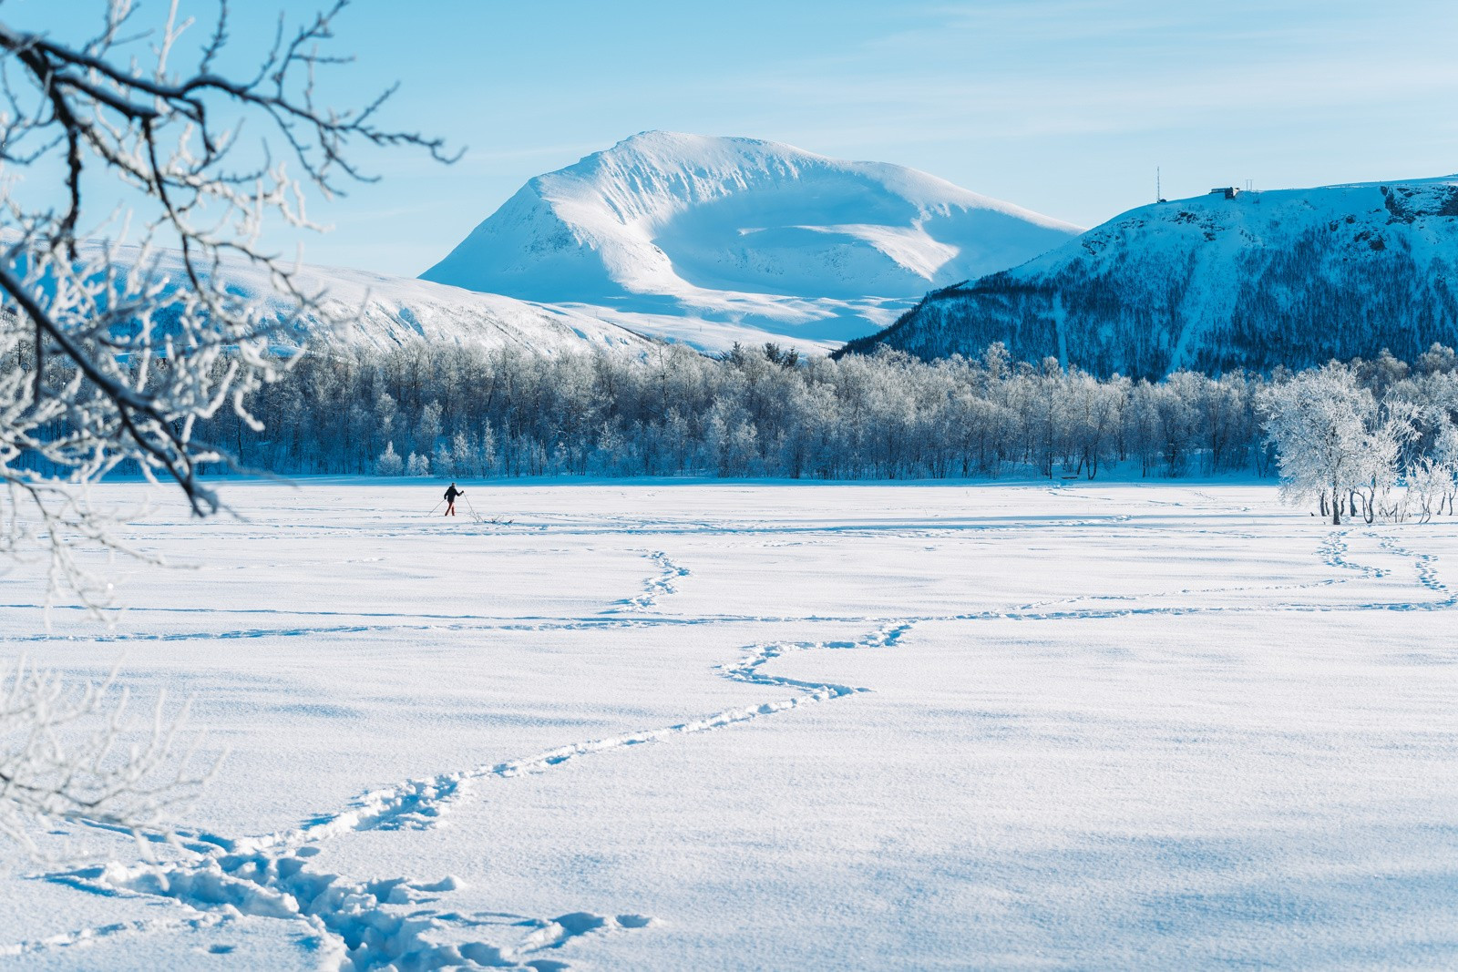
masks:
[[[666,557],[662,561],[666,564]],[[322,841],[344,834],[432,828],[481,780],[550,772],[583,756],[725,729],[800,705],[870,691],[834,682],[790,679],[761,669],[792,650],[891,647],[914,624],[882,624],[859,641],[754,644],[736,663],[716,669],[730,681],[795,689],[798,694],[789,698],[729,708],[660,729],[570,743],[532,756],[429,780],[411,780],[366,793],[346,810],[316,818],[284,834],[232,841],[213,834],[181,832],[178,838],[185,853],[181,861],[130,866],[112,861],[50,874],[47,879],[99,895],[168,898],[204,915],[222,914],[223,920],[252,915],[292,921],[318,941],[325,966],[341,972],[386,966],[399,972],[459,966],[566,969],[564,962],[532,956],[560,949],[580,936],[649,927],[653,920],[639,914],[572,912],[550,920],[518,918],[512,924],[523,928],[525,934],[512,946],[481,940],[442,941],[461,937],[483,924],[493,924],[483,921],[480,915],[467,920],[455,912],[430,908],[442,893],[458,886],[453,877],[430,885],[404,877],[362,882],[313,871],[309,860],[319,853]],[[80,931],[64,937],[64,941],[22,943],[12,949],[13,953],[23,955],[71,944],[73,940],[92,940],[98,934],[99,930]],[[0,950],[0,955],[6,952]]]

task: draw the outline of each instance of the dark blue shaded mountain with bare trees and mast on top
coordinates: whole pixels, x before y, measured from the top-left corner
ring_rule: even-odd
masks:
[[[1458,176],[1145,205],[1022,267],[930,293],[886,344],[1005,341],[1098,373],[1268,370],[1458,342]]]

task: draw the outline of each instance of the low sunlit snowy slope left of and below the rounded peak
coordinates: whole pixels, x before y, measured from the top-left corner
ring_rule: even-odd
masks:
[[[175,280],[182,278],[176,256],[163,255],[157,268]],[[289,300],[257,267],[239,262],[225,273],[236,293],[265,302],[280,318],[290,315]],[[561,354],[580,350],[633,353],[650,344],[590,315],[426,280],[341,267],[302,267],[297,283],[308,294],[324,294],[324,310],[346,324],[330,328],[322,321],[306,321],[303,332],[281,334],[280,345],[309,341],[388,350],[424,341]]]

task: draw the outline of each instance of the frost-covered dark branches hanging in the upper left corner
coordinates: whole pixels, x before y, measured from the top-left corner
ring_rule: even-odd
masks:
[[[219,67],[226,0],[208,6],[206,32],[176,0],[156,25],[139,23],[131,0],[109,0],[74,42],[60,39],[64,22],[45,32],[0,22],[6,541],[39,539],[60,554],[63,579],[73,579],[66,538],[109,542],[73,484],[134,463],[174,482],[195,514],[217,512],[198,472],[230,456],[197,436],[197,421],[227,409],[257,430],[246,396],[287,364],[271,335],[330,319],[295,262],[262,246],[264,227],[312,227],[311,195],[366,179],[353,146],[443,157],[440,140],[376,122],[392,89],[346,111],[321,102],[319,73],[348,60],[330,52],[346,3],[292,29],[280,19],[241,77]],[[229,265],[262,273],[292,312],[281,319],[238,294]]]

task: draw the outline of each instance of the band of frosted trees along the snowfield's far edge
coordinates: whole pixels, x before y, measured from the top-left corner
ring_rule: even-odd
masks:
[[[1384,354],[1336,367],[1373,402],[1414,404],[1404,460],[1458,417],[1448,348],[1411,366]],[[1000,344],[932,363],[774,345],[720,357],[662,345],[643,358],[413,345],[306,356],[251,401],[261,436],[230,414],[203,433],[242,466],[281,474],[1264,477],[1277,459],[1270,389],[1293,377],[1101,380],[1051,358],[1012,361]]]

